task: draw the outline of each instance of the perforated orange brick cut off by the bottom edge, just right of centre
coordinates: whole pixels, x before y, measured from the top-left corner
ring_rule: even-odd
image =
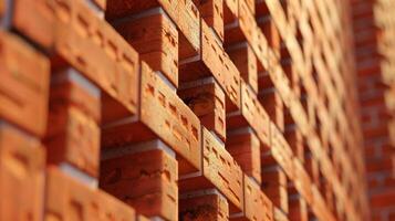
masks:
[[[260,187],[245,176],[245,214],[230,220],[272,221],[273,204]]]

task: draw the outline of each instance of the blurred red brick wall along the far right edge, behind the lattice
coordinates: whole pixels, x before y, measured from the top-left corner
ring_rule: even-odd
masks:
[[[395,219],[395,2],[354,1],[355,59],[372,220]]]

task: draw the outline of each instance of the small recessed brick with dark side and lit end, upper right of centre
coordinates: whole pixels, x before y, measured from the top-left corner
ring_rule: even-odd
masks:
[[[257,57],[251,46],[245,42],[227,48],[227,52],[240,72],[240,76],[258,93],[258,67]]]

